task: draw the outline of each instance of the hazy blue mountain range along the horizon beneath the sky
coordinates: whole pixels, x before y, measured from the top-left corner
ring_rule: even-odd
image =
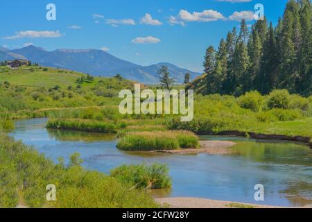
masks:
[[[168,67],[168,71],[175,78],[176,83],[182,83],[186,73],[191,75],[191,79],[200,76],[199,73],[182,69],[166,62],[150,66],[137,65],[96,49],[57,49],[55,51],[46,51],[33,45],[14,50],[0,48],[0,61],[14,59],[30,60],[45,67],[71,69],[93,76],[112,77],[116,74],[121,74],[123,78],[137,80],[141,83],[158,83],[157,70],[163,65]]]

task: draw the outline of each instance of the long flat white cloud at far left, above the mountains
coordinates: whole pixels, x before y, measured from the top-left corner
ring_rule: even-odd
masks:
[[[4,37],[6,40],[17,40],[21,38],[40,38],[40,37],[61,37],[60,31],[19,31],[15,35]]]

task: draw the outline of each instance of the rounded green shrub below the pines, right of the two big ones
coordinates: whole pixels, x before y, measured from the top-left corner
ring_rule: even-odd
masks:
[[[268,97],[268,108],[288,109],[291,103],[291,95],[286,89],[278,89],[270,93]]]

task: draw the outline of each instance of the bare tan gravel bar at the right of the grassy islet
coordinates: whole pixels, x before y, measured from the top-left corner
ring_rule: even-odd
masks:
[[[155,153],[171,153],[171,154],[198,154],[206,153],[211,155],[229,155],[231,150],[229,147],[236,145],[229,141],[200,141],[200,148],[184,148],[173,151],[153,151]]]

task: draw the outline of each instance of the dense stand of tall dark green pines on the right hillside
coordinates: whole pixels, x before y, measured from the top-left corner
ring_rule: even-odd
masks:
[[[305,96],[312,92],[311,1],[290,0],[277,26],[266,17],[251,28],[241,21],[218,49],[209,46],[205,74],[189,87],[202,94],[233,94],[274,89]]]

